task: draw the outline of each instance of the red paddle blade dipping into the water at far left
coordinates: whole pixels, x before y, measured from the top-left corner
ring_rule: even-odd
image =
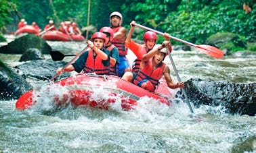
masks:
[[[24,110],[33,104],[33,90],[29,90],[28,92],[25,92],[25,94],[22,94],[20,98],[18,98],[16,102],[16,109]]]

